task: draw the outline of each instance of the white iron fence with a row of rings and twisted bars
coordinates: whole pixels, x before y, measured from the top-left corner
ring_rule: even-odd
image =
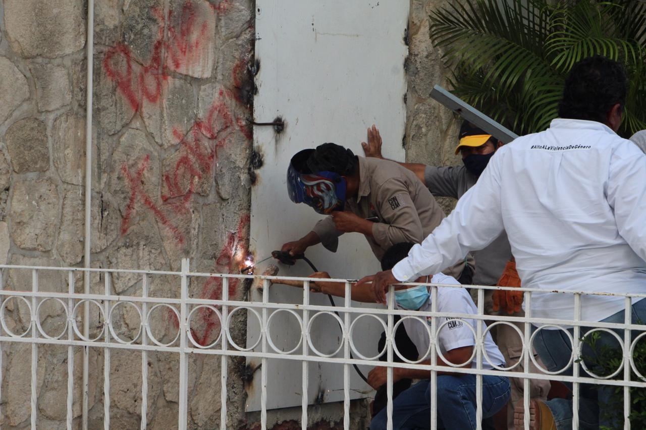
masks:
[[[437,324],[437,318],[432,318],[432,325],[427,327],[430,336],[430,356],[431,365],[422,365],[419,362],[412,362],[402,358],[404,362],[393,362],[397,353],[396,347],[393,347],[393,333],[397,324],[393,323],[395,314],[406,317],[426,316],[450,316],[451,318],[473,318],[477,321],[476,327],[471,327],[477,339],[475,345],[474,358],[481,362],[481,358],[488,360],[483,352],[482,339],[490,330],[487,328],[485,320],[492,320],[492,316],[484,315],[483,296],[486,289],[496,289],[500,287],[474,287],[477,288],[479,297],[478,316],[466,314],[446,314],[437,312],[433,300],[432,312],[400,311],[393,309],[393,301],[389,300],[390,305],[384,309],[365,309],[353,307],[349,300],[350,283],[346,280],[346,299],[342,306],[332,308],[331,306],[310,305],[308,280],[306,278],[291,278],[293,280],[303,280],[305,282],[302,303],[287,304],[273,303],[269,301],[269,286],[272,280],[276,278],[284,279],[285,277],[277,276],[247,276],[233,274],[210,274],[191,272],[189,270],[189,260],[182,261],[181,272],[170,271],[123,271],[109,269],[79,269],[79,268],[61,268],[61,267],[28,267],[28,266],[0,266],[3,272],[0,276],[0,381],[3,380],[1,374],[3,363],[2,349],[10,346],[10,343],[26,343],[31,346],[30,360],[31,363],[31,380],[30,380],[30,421],[32,429],[38,425],[38,407],[39,393],[38,384],[38,365],[39,365],[39,348],[42,345],[63,345],[67,346],[67,428],[72,428],[74,418],[74,352],[75,348],[83,347],[85,359],[83,360],[83,378],[85,387],[83,387],[83,427],[87,427],[88,414],[88,347],[103,350],[103,426],[105,429],[110,427],[110,351],[116,349],[126,349],[130,351],[140,351],[141,353],[141,429],[147,426],[147,412],[151,405],[148,404],[148,354],[151,351],[161,351],[165,353],[174,353],[179,356],[179,387],[178,387],[178,427],[187,428],[188,425],[188,396],[189,396],[189,354],[211,354],[220,356],[220,427],[227,428],[227,366],[229,365],[229,356],[248,356],[260,360],[260,384],[262,389],[262,409],[260,411],[260,420],[262,428],[267,425],[266,400],[267,393],[271,393],[272,387],[267,386],[267,360],[292,360],[295,365],[300,363],[302,367],[302,428],[307,425],[308,414],[308,379],[307,369],[311,363],[325,361],[339,365],[344,374],[344,428],[349,428],[349,393],[352,387],[349,386],[349,375],[353,371],[351,366],[357,365],[384,365],[388,367],[388,416],[390,428],[390,416],[392,413],[391,382],[393,367],[403,367],[408,369],[424,369],[429,372],[431,386],[437,378],[437,371],[445,370],[446,367],[437,365],[437,336],[435,334],[441,328]],[[53,275],[52,275],[53,274]],[[97,276],[99,275],[99,276]],[[81,281],[92,283],[95,294],[80,294],[76,292],[76,285]],[[30,277],[30,281],[29,281]],[[102,285],[99,287],[102,291],[96,291],[98,281],[96,278],[102,278]],[[153,280],[156,278],[165,278],[165,287],[158,287]],[[247,286],[251,285],[251,280],[255,278],[257,285],[262,288],[262,301],[249,302],[243,300],[230,300],[229,286],[232,282],[247,280]],[[115,288],[113,282],[118,280],[121,287]],[[197,298],[194,294],[193,285],[207,280],[216,280],[221,285],[221,298],[211,300],[209,298]],[[135,289],[132,285],[138,285]],[[432,296],[437,297],[437,289],[442,286],[433,285]],[[67,292],[65,292],[67,289]],[[153,291],[154,290],[154,291]],[[115,291],[120,291],[116,294]],[[531,291],[525,292],[525,305],[531,309]],[[579,370],[578,365],[574,365],[572,376],[565,376],[561,372],[550,373],[547,369],[538,373],[528,371],[514,372],[513,376],[523,378],[525,382],[525,410],[529,407],[528,382],[529,378],[559,380],[561,382],[571,382],[573,384],[572,400],[574,409],[578,409],[579,404],[579,387],[581,384],[605,384],[623,387],[623,416],[630,414],[630,387],[646,389],[646,379],[640,373],[643,369],[643,363],[639,363],[633,357],[634,349],[639,342],[646,342],[644,336],[646,329],[644,325],[634,325],[630,323],[629,317],[623,323],[590,323],[578,320],[580,315],[581,296],[580,292],[561,292],[565,295],[570,294],[573,299],[575,318],[574,320],[545,320],[532,318],[531,312],[527,311],[525,318],[513,316],[495,316],[497,324],[511,324],[521,322],[525,330],[517,329],[520,338],[523,339],[523,354],[516,363],[510,363],[508,368],[495,367],[494,370],[485,370],[481,363],[474,369],[455,367],[456,373],[475,373],[477,375],[477,405],[478,418],[481,418],[482,402],[482,376],[487,374],[496,374],[510,376],[506,370],[516,368],[523,364],[524,369],[530,369],[530,360],[536,363],[533,354],[529,353],[530,342],[533,342],[534,336],[530,330],[530,324],[541,326],[572,327],[574,326],[574,336],[571,336],[573,343],[573,353],[570,362],[578,362],[581,356],[581,327],[598,327],[601,331],[623,331],[623,336],[616,336],[618,344],[621,345],[622,352],[621,363],[616,371],[610,375],[586,376]],[[611,294],[613,295],[613,294]],[[626,309],[630,308],[630,297],[622,294],[614,294],[625,298]],[[644,297],[633,296],[633,297]],[[289,351],[284,351],[276,347],[271,336],[271,319],[276,311],[289,312],[297,322],[300,329],[300,338],[296,341],[295,347]],[[338,312],[337,314],[334,312]],[[231,322],[234,314],[238,312],[251,312],[258,320],[258,326],[262,332],[255,345],[241,345],[240,340],[236,342],[236,336],[232,333]],[[630,312],[627,312],[630,315]],[[200,317],[202,315],[202,317]],[[326,318],[333,318],[339,323],[342,336],[339,342],[339,348],[331,353],[318,351],[315,345],[315,339],[309,336],[309,331],[318,318],[327,315]],[[208,318],[206,318],[207,316]],[[375,356],[367,356],[365,351],[358,351],[353,339],[357,336],[365,336],[365,333],[358,333],[357,324],[362,318],[376,318],[386,331],[386,347],[384,351],[388,360],[386,362],[378,361]],[[216,329],[213,333],[211,330],[205,331],[205,321],[209,321],[209,327]],[[169,324],[169,321],[172,322]],[[466,322],[465,322],[466,323]],[[160,329],[161,327],[161,329]],[[221,327],[221,329],[220,329]],[[208,328],[208,327],[207,327]],[[553,328],[553,327],[552,327]],[[203,336],[196,334],[202,330]],[[631,331],[640,331],[641,334],[633,336]],[[376,334],[371,333],[370,336]],[[517,369],[516,369],[517,370]],[[637,376],[635,376],[635,374]],[[1,387],[1,385],[0,385]],[[0,404],[6,393],[0,391]],[[440,400],[432,390],[431,395],[431,416],[432,429],[436,428],[435,416],[437,403]],[[216,403],[217,400],[213,399]],[[5,411],[0,411],[0,416]],[[78,413],[76,414],[78,415]],[[480,420],[478,420],[480,421]],[[525,415],[525,428],[529,428],[529,414]],[[573,428],[578,428],[578,416],[574,414]],[[630,424],[626,420],[625,428]]]

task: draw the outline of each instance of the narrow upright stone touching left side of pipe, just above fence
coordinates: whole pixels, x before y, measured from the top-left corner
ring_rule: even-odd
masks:
[[[84,208],[85,197],[81,187],[65,191],[56,251],[69,266],[75,265],[83,258]]]

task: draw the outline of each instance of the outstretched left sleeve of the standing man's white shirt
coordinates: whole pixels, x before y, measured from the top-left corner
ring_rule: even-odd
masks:
[[[443,271],[469,251],[483,249],[503,232],[499,160],[501,148],[483,174],[442,223],[421,244],[414,245],[408,258],[393,267],[393,276],[405,282],[418,276]]]

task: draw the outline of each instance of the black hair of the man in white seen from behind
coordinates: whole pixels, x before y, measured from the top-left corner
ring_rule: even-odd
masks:
[[[617,61],[603,56],[582,59],[565,79],[559,116],[605,123],[610,109],[626,103],[628,78]]]

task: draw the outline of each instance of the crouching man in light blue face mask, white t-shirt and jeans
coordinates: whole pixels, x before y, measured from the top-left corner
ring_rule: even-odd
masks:
[[[389,270],[402,258],[406,258],[412,243],[397,243],[391,246],[381,259],[382,269]],[[329,278],[326,272],[317,272],[313,278]],[[466,289],[451,276],[435,274],[421,276],[415,282],[455,284],[457,287],[439,287],[437,290],[437,312],[452,314],[477,314],[474,301]],[[337,282],[317,281],[310,284],[313,291],[344,296],[344,284]],[[375,302],[370,285],[353,287],[352,300],[359,302]],[[410,311],[431,311],[431,296],[427,285],[415,287],[395,287],[395,305],[398,309]],[[423,322],[421,321],[423,320]],[[417,351],[424,354],[430,351],[429,331],[423,324],[431,324],[430,318],[421,320],[406,318],[402,324],[411,338]],[[437,347],[441,355],[437,356],[438,365],[451,362],[461,367],[476,367],[474,354],[474,332],[470,327],[477,327],[476,321],[470,318],[439,318],[435,327],[440,327],[437,335]],[[490,363],[504,367],[505,358],[495,345],[491,334],[485,336],[484,347]],[[421,356],[419,358],[422,358]],[[430,364],[429,355],[423,357],[422,364]],[[483,369],[493,369],[492,365],[483,360]],[[393,383],[402,378],[419,379],[420,382],[403,391],[393,400],[393,429],[428,429],[430,428],[430,390],[437,389],[437,428],[438,429],[475,429],[475,374],[454,373],[451,371],[437,372],[437,387],[430,386],[430,373],[421,369],[393,368]],[[368,384],[374,389],[386,383],[386,367],[375,367],[368,374]],[[509,379],[504,376],[483,376],[482,415],[488,418],[502,409],[510,397]],[[371,430],[386,429],[386,408],[374,416],[370,423]]]

